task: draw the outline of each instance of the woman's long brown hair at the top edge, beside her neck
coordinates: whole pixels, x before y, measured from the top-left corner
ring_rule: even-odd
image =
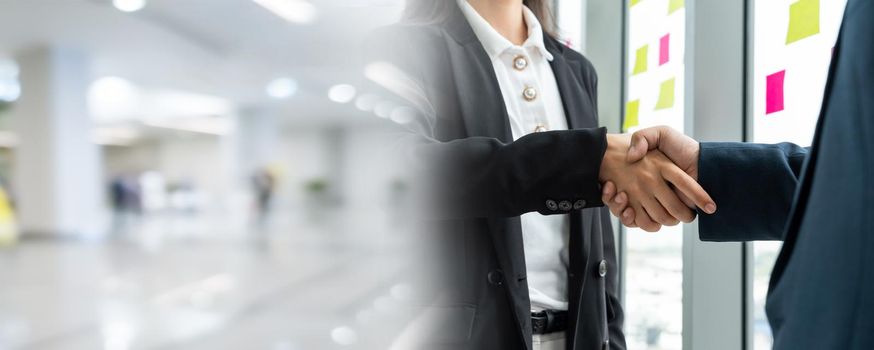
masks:
[[[547,33],[555,32],[555,22],[549,9],[549,0],[523,0],[534,12]],[[458,6],[455,0],[407,0],[402,21],[404,23],[433,24],[445,21]]]

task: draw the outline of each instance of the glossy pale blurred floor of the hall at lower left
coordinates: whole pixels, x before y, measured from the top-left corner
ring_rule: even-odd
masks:
[[[386,231],[136,221],[0,250],[0,349],[385,349],[404,323],[403,249]]]

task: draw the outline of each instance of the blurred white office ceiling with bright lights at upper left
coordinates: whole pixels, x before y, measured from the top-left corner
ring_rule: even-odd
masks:
[[[83,50],[93,75],[205,93],[245,108],[277,108],[289,120],[356,118],[327,98],[337,83],[361,83],[357,50],[373,28],[392,23],[403,0],[309,0],[310,24],[293,24],[252,0],[149,0],[125,13],[110,0],[0,1],[0,53],[37,46]],[[274,78],[297,80],[296,96],[264,92]]]

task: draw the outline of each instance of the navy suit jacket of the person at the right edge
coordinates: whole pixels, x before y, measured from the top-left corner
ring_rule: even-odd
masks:
[[[874,1],[850,0],[810,149],[702,143],[713,241],[784,240],[774,349],[874,349]]]

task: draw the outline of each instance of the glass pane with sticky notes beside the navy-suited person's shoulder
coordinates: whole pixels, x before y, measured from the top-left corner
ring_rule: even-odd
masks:
[[[819,118],[832,50],[845,0],[814,1],[817,11],[791,11],[810,1],[756,1],[754,7],[753,141],[810,145]],[[794,16],[794,17],[793,17]],[[799,23],[818,26],[799,26]],[[753,266],[753,345],[770,349],[765,315],[768,281],[781,242],[756,242]]]

